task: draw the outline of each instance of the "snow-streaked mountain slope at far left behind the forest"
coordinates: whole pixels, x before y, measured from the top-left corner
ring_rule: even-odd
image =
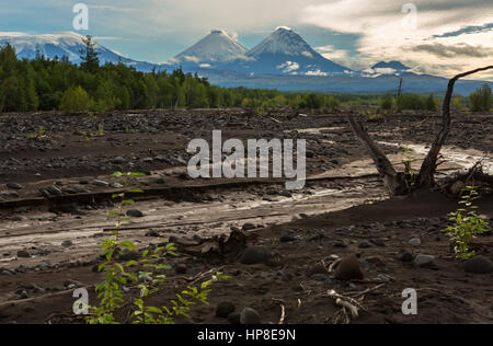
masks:
[[[44,35],[0,33],[0,46],[10,43],[10,45],[15,48],[19,59],[34,59],[39,54],[47,59],[67,57],[70,62],[79,64],[81,61],[80,50],[84,47],[84,36],[73,32]],[[150,71],[153,67],[152,64],[125,58],[118,53],[98,43],[95,43],[95,50],[99,53],[100,62],[102,65],[105,62],[118,64],[118,61],[122,61],[142,71]]]

